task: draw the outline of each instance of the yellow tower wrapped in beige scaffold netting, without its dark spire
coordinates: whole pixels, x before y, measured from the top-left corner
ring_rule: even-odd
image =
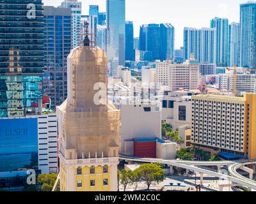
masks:
[[[120,111],[108,105],[107,64],[99,47],[68,55],[68,98],[57,107],[61,191],[117,190]]]

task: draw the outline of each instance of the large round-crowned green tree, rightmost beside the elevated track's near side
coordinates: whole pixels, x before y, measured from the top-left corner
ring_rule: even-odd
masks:
[[[148,190],[154,182],[159,184],[164,180],[164,170],[156,164],[142,164],[138,168],[138,174],[141,179],[145,180]]]

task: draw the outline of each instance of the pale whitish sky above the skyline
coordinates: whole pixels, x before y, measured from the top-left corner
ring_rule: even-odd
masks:
[[[45,5],[59,6],[63,0],[43,0]],[[90,4],[106,11],[106,0],[80,0],[83,13]],[[211,18],[228,18],[239,22],[239,4],[248,0],[126,0],[126,20],[134,22],[134,36],[140,25],[171,23],[175,27],[175,48],[183,46],[184,27],[209,27]]]

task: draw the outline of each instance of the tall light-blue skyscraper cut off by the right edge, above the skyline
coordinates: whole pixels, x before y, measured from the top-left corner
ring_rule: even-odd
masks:
[[[240,62],[256,69],[256,2],[240,4]]]

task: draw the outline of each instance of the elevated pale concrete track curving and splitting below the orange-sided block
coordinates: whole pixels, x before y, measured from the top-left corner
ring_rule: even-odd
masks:
[[[230,180],[231,182],[234,182],[236,184],[240,184],[241,186],[248,187],[250,189],[256,190],[256,182],[253,180],[247,179],[241,175],[237,175],[236,170],[239,168],[239,166],[244,166],[246,163],[256,163],[256,161],[246,161],[246,163],[242,163],[239,161],[239,163],[235,163],[232,161],[206,161],[206,162],[198,162],[198,161],[180,161],[180,160],[164,160],[164,159],[151,159],[151,158],[136,158],[136,157],[127,157],[127,156],[120,156],[120,159],[125,161],[137,161],[137,162],[143,162],[143,163],[162,163],[162,164],[168,164],[170,166],[177,166],[179,168],[184,168],[186,170],[192,170],[199,173],[205,173],[207,175],[212,175],[214,177],[218,177],[220,179]],[[195,165],[195,166],[193,166]],[[218,173],[211,170],[205,170],[203,168],[199,168],[197,166],[220,166],[220,165],[228,165],[229,170],[231,170],[231,175],[225,175],[222,173]]]

